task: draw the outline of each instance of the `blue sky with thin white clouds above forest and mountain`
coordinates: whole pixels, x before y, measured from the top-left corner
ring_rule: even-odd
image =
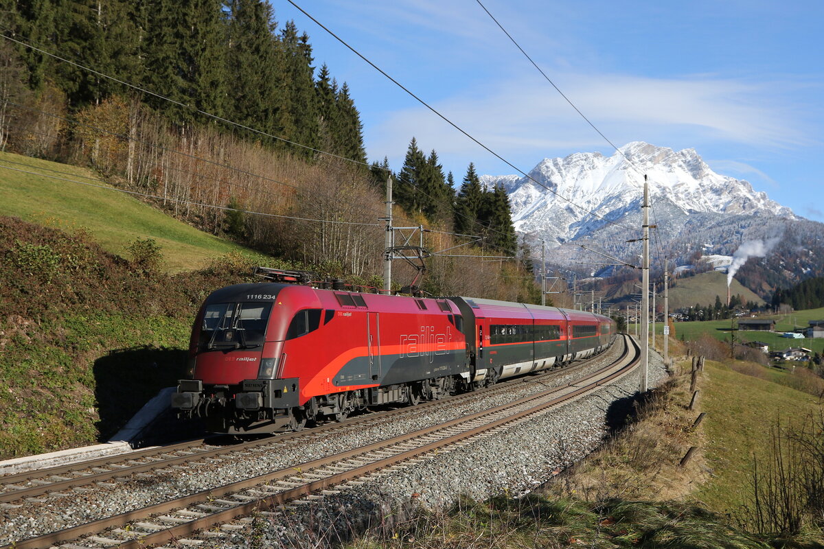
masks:
[[[695,148],[798,215],[824,221],[824,2],[481,0],[620,147]],[[373,63],[518,168],[614,150],[474,0],[298,2]],[[285,0],[316,65],[347,81],[370,161],[400,169],[412,136],[460,181],[513,169],[457,133]]]

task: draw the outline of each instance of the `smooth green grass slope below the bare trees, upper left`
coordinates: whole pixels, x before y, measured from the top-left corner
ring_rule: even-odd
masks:
[[[109,186],[90,179],[96,177],[91,170],[7,152],[0,152],[0,166]],[[103,249],[119,255],[126,255],[125,247],[138,237],[152,238],[171,272],[203,267],[210,258],[232,251],[248,252],[128,194],[2,168],[0,181],[0,215],[64,230],[85,227]]]

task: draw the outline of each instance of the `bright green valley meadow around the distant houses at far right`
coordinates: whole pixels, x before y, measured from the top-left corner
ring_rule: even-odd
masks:
[[[787,347],[807,347],[819,353],[824,352],[824,339],[789,339],[780,337],[784,331],[792,331],[793,326],[807,327],[809,320],[824,319],[824,308],[796,311],[793,314],[776,314],[764,318],[775,319],[775,333],[770,332],[737,332],[741,341],[759,341],[770,345],[770,349],[780,351]],[[709,320],[707,322],[677,322],[675,323],[676,337],[696,339],[701,333],[709,333],[719,340],[729,339],[729,320]],[[662,326],[655,324],[656,333],[662,333]]]

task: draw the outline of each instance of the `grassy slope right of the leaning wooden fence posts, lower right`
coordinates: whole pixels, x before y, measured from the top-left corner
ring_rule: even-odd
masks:
[[[817,398],[710,361],[700,388],[708,412],[703,428],[711,474],[695,497],[719,513],[735,512],[751,503],[752,457],[765,458],[770,426],[817,411]]]

